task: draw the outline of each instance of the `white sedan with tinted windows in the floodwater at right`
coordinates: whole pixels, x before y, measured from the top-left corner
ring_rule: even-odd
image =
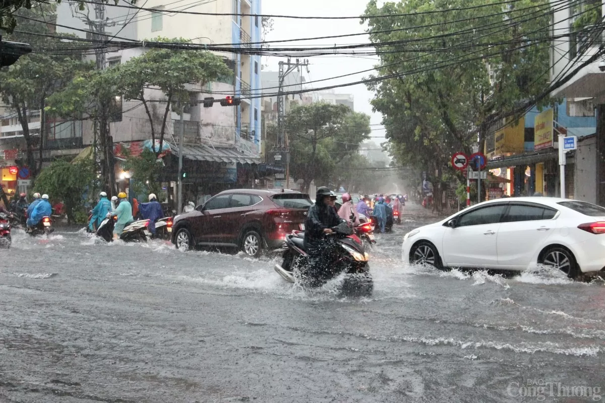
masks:
[[[546,197],[486,201],[405,234],[402,257],[439,269],[545,265],[572,278],[605,271],[605,208]]]

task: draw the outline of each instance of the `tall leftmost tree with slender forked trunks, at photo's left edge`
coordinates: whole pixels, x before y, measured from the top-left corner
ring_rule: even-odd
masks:
[[[17,13],[27,18],[48,18],[53,16],[56,5],[39,5],[31,10],[23,9]],[[10,39],[18,42],[30,42],[38,34],[51,34],[47,24],[22,19],[24,30],[31,34],[15,33]],[[45,99],[73,79],[74,74],[90,68],[89,63],[82,62],[79,56],[62,56],[57,54],[63,45],[53,37],[36,39],[38,47],[35,53],[21,56],[10,68],[0,69],[0,96],[5,105],[10,106],[16,113],[21,124],[27,152],[27,165],[31,175],[38,174],[42,166],[42,151],[45,138]],[[39,161],[36,164],[34,156],[34,138],[30,133],[29,115],[31,111],[42,111],[41,130],[39,135]]]

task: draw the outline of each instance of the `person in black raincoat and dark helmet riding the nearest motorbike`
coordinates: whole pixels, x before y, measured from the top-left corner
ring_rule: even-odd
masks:
[[[332,233],[332,227],[344,222],[336,213],[334,207],[336,195],[327,187],[319,187],[315,196],[315,204],[309,207],[305,221],[304,248],[309,255],[309,266],[312,272],[325,271],[324,262],[325,236]]]

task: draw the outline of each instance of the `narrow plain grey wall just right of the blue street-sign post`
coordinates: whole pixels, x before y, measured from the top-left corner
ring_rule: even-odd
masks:
[[[597,138],[578,142],[575,150],[575,198],[597,203]]]

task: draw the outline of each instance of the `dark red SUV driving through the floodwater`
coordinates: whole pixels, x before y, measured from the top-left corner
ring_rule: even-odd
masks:
[[[309,195],[279,190],[234,189],[218,193],[194,211],[174,218],[172,243],[240,248],[249,256],[284,244],[286,234],[304,230]]]

